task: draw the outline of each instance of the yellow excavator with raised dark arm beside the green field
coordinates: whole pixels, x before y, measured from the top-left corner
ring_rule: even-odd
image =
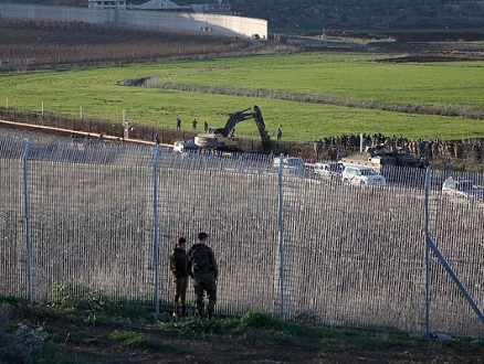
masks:
[[[249,119],[254,119],[259,133],[262,139],[262,150],[270,153],[272,150],[271,137],[265,130],[264,119],[261,109],[254,105],[253,109],[249,107],[242,111],[229,114],[229,120],[223,128],[209,128],[208,132],[199,133],[194,137],[194,143],[200,149],[214,149],[228,152],[242,152],[239,146],[239,138],[234,137],[235,126]],[[251,110],[251,111],[249,111]]]

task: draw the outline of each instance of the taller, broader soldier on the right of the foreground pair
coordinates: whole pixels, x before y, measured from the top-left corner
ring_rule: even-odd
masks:
[[[209,236],[207,233],[198,234],[198,242],[188,250],[188,272],[194,280],[193,288],[197,296],[197,314],[203,318],[204,292],[209,304],[207,307],[207,318],[213,317],[217,302],[217,279],[219,269],[213,250],[207,246]]]

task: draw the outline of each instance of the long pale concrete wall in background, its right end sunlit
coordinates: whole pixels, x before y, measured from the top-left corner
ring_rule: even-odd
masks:
[[[20,19],[53,19],[87,23],[155,26],[175,30],[212,31],[224,34],[267,39],[267,21],[255,18],[189,12],[143,10],[101,10],[72,7],[46,7],[0,3],[0,15]]]

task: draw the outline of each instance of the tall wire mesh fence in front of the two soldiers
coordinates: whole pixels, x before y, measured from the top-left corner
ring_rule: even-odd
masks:
[[[0,136],[0,293],[46,302],[72,282],[169,310],[167,256],[206,231],[218,314],[483,338],[425,239],[483,307],[484,203],[442,195],[454,172],[428,173],[427,192],[425,171],[411,168],[361,188],[293,175],[269,156]]]

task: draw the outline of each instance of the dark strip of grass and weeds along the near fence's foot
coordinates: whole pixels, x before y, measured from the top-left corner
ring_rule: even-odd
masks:
[[[72,285],[67,283],[66,287]],[[75,295],[69,292],[66,296],[72,298]],[[147,310],[134,312],[128,308],[119,308],[113,312],[108,308],[114,303],[104,308],[77,306],[84,297],[85,291],[78,295],[77,300],[62,300],[63,303],[57,306],[29,306],[20,299],[0,297],[0,362],[83,363],[85,361],[75,350],[92,345],[98,352],[105,349],[109,356],[116,355],[111,347],[117,345],[122,356],[129,350],[144,350],[166,353],[176,358],[177,355],[187,355],[190,350],[177,343],[180,339],[284,345],[285,350],[291,347],[306,354],[418,350],[439,355],[449,349],[459,352],[472,350],[474,353],[484,351],[482,341],[465,338],[438,341],[424,336],[411,338],[397,330],[358,330],[283,322],[262,312],[248,312],[242,318],[186,318],[172,322],[168,314],[156,318]],[[120,318],[123,310],[133,315],[123,314],[124,318]],[[107,318],[101,331],[83,320],[93,313],[102,313]]]

